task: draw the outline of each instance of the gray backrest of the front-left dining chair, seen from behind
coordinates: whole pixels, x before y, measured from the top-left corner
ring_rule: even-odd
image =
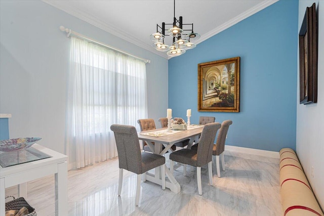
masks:
[[[141,174],[142,155],[136,128],[130,125],[112,124],[110,129],[115,136],[119,168]]]

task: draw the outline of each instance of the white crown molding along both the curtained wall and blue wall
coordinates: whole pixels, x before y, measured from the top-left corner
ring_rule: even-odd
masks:
[[[245,11],[244,13],[239,14],[238,16],[234,17],[233,19],[229,20],[228,22],[222,24],[221,26],[218,26],[217,28],[205,33],[204,35],[201,35],[200,38],[198,40],[196,40],[196,44],[199,44],[200,42],[203,42],[207,39],[209,39],[210,37],[220,33],[221,31],[224,31],[225,29],[235,25],[236,23],[256,14],[257,12],[265,9],[266,7],[278,2],[279,0],[268,0],[268,1],[264,1],[261,2],[260,4],[256,5],[255,7]],[[99,19],[98,17],[95,17],[89,13],[87,13],[86,11],[82,11],[79,9],[76,9],[74,7],[70,7],[65,5],[64,7],[62,7],[62,5],[60,4],[60,1],[49,1],[49,0],[43,0],[44,3],[49,4],[61,11],[64,11],[74,17],[77,17],[85,22],[88,22],[104,31],[107,31],[121,39],[124,39],[126,41],[131,42],[132,44],[143,48],[151,53],[154,53],[158,56],[161,56],[165,59],[171,59],[173,57],[170,57],[168,55],[166,55],[165,52],[159,52],[156,51],[154,49],[152,49],[152,47],[150,45],[145,44],[144,42],[142,42],[141,40],[139,40],[138,38],[134,38],[134,37],[129,37],[127,32],[113,26],[110,24],[107,24],[106,22],[102,21],[101,19]]]

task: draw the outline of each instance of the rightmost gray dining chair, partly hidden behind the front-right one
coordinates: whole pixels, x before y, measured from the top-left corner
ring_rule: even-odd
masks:
[[[223,171],[225,171],[225,159],[224,159],[225,141],[226,141],[226,135],[228,132],[229,125],[231,125],[232,123],[233,122],[231,120],[225,120],[222,122],[221,129],[219,130],[219,133],[217,135],[216,145],[213,145],[213,155],[216,155],[216,169],[217,169],[218,178],[221,177],[220,167],[219,167],[219,156],[221,156],[222,168]],[[191,146],[191,149],[197,151],[198,145]]]

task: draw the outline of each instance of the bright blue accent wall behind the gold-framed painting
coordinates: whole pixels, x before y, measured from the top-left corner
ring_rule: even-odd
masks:
[[[197,23],[196,25],[199,25]],[[231,119],[227,145],[296,149],[298,1],[279,1],[169,60],[169,108]],[[240,57],[240,112],[198,112],[197,64]]]

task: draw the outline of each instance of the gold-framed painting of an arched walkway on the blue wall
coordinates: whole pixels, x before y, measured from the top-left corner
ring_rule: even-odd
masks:
[[[239,112],[239,57],[198,64],[198,111]]]

